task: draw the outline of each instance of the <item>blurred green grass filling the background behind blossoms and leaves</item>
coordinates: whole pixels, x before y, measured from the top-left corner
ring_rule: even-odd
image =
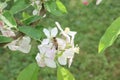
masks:
[[[81,0],[62,2],[67,7],[68,14],[63,17],[48,14],[41,24],[54,27],[54,22],[59,21],[62,27],[77,31],[75,43],[80,46],[80,53],[75,55],[70,72],[76,80],[120,80],[120,38],[103,54],[97,53],[100,38],[120,16],[120,1],[103,0],[98,6],[95,5],[95,0],[88,6],[83,5]],[[29,54],[0,48],[0,80],[16,80],[19,72],[35,61],[37,44],[39,43],[32,41]],[[40,68],[39,80],[56,80],[56,70]]]

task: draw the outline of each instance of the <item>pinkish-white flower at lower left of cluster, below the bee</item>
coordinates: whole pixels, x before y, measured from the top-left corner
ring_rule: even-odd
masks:
[[[50,45],[39,45],[40,53],[36,56],[36,61],[40,67],[51,67],[56,68],[56,63],[54,61],[56,50]]]

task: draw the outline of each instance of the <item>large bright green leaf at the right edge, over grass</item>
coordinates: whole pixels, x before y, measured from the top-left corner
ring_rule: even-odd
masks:
[[[99,42],[98,52],[103,52],[111,46],[120,34],[120,17],[117,18],[106,30]]]

